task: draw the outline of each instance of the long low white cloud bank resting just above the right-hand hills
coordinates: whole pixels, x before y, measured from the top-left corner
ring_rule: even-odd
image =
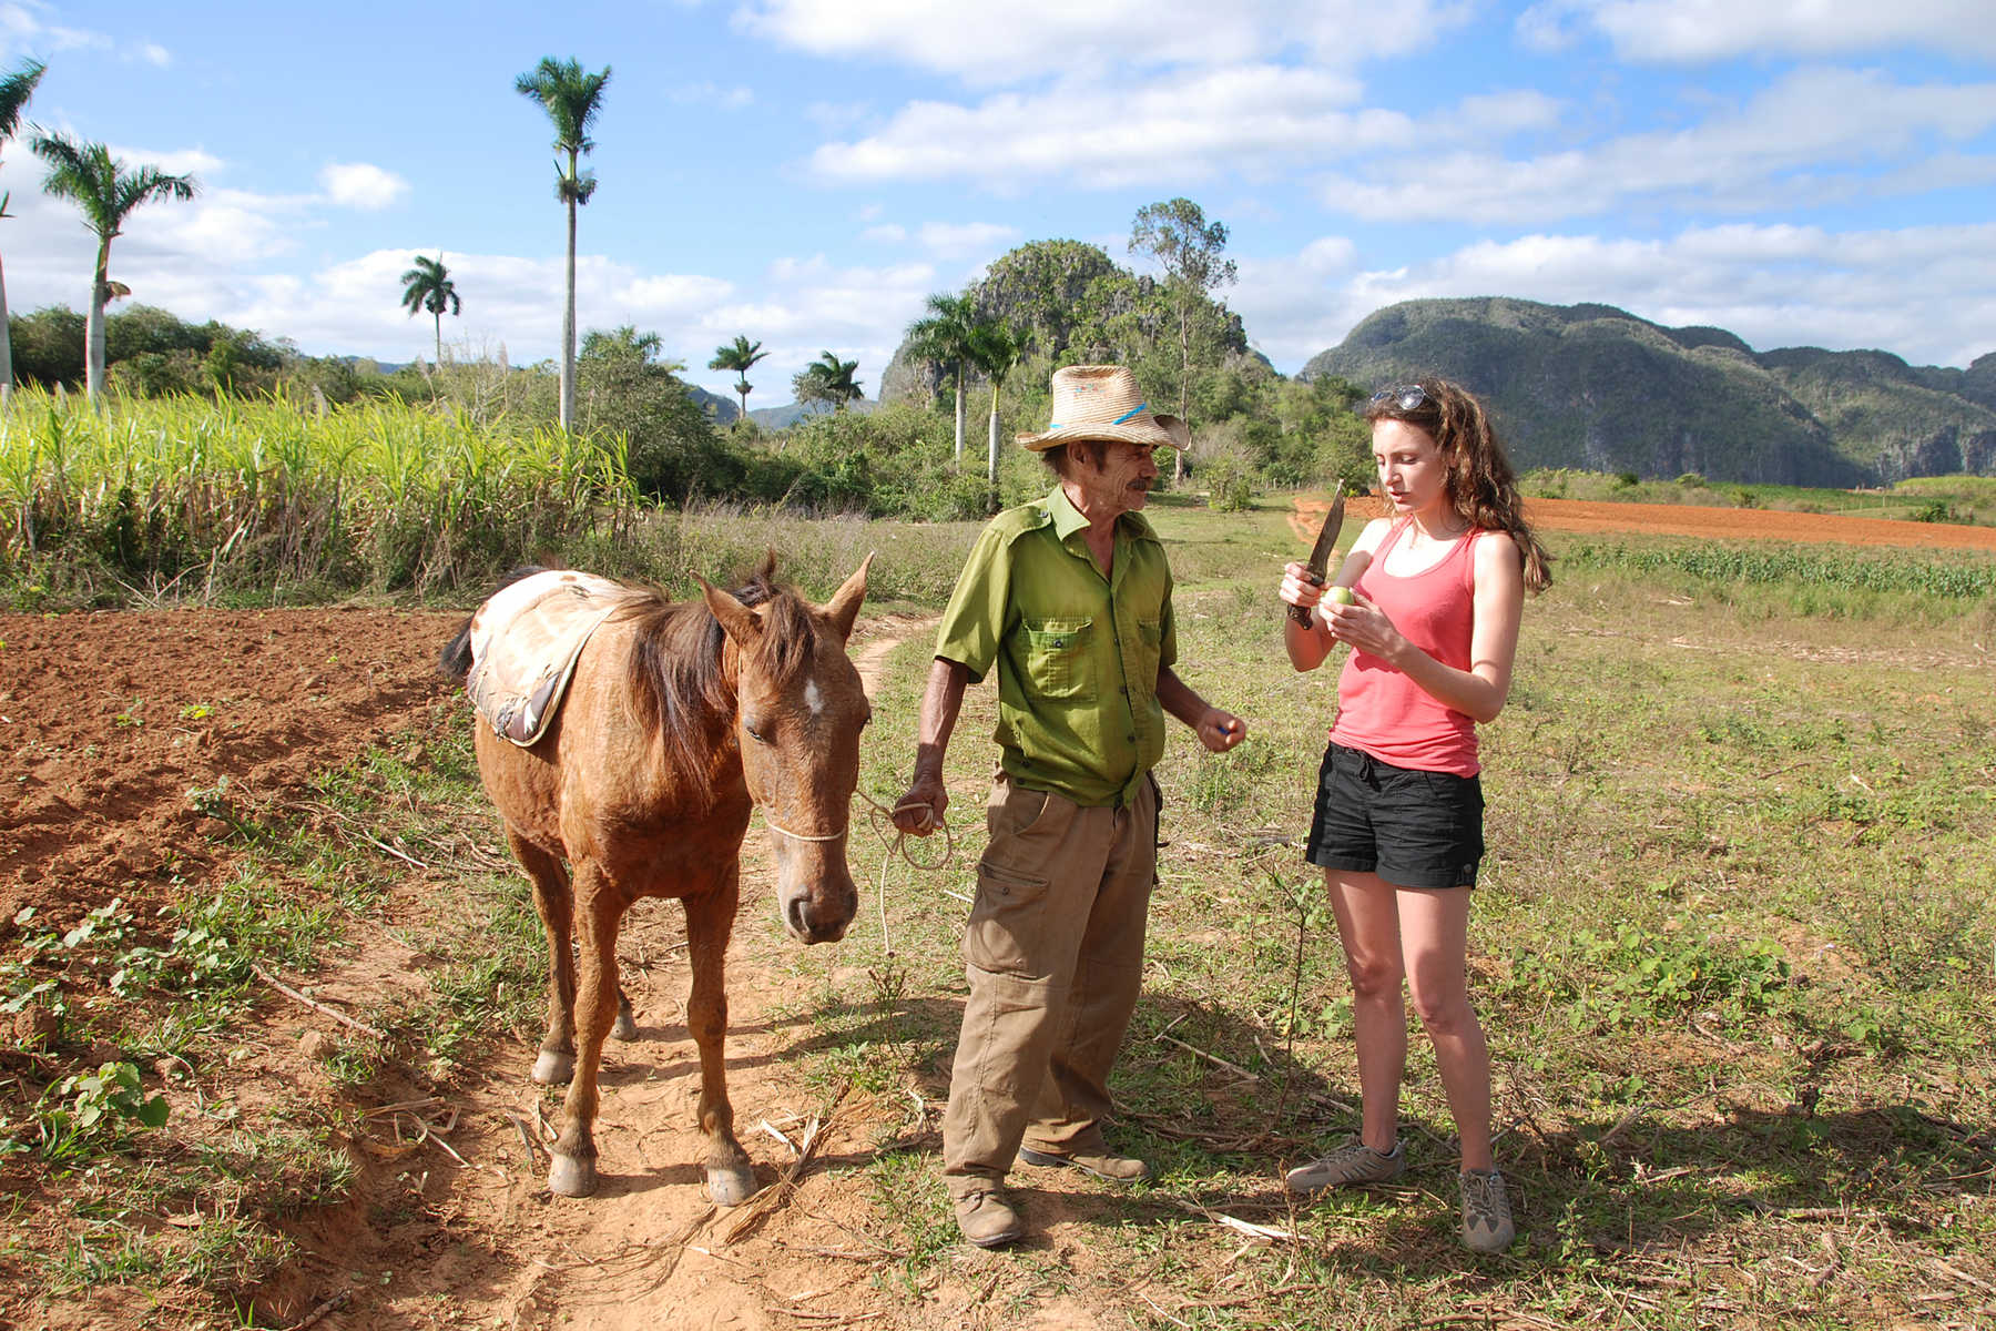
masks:
[[[1277,369],[1337,345],[1365,315],[1417,297],[1601,301],[1667,325],[1717,325],[1766,351],[1884,347],[1966,365],[1996,351],[1996,223],[1894,231],[1693,227],[1665,239],[1525,235],[1395,269],[1361,269],[1347,241],[1242,261],[1230,293]]]

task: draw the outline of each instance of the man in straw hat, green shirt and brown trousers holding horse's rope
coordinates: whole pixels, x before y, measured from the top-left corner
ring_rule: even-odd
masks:
[[[1014,1157],[1112,1183],[1150,1177],[1110,1153],[1108,1074],[1136,1008],[1158,862],[1164,712],[1214,752],[1248,726],[1208,706],[1172,665],[1172,571],[1140,509],[1152,453],[1186,423],[1152,415],[1120,365],[1054,373],[1054,421],[1018,441],[1058,475],[994,517],[936,637],[914,784],[894,824],[926,834],[950,796],[942,756],[964,686],[998,666],[1002,764],[964,930],[970,998],[942,1119],[942,1175],[964,1237],[1024,1233],[1002,1191]]]

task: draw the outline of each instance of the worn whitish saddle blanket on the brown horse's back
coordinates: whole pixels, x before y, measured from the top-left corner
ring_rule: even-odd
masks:
[[[559,569],[501,587],[479,607],[465,692],[493,734],[521,748],[547,734],[583,645],[629,597],[623,583]]]

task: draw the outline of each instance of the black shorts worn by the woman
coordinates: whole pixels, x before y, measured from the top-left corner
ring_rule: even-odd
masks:
[[[1483,858],[1483,782],[1331,744],[1317,772],[1307,858],[1379,874],[1399,888],[1473,888]]]

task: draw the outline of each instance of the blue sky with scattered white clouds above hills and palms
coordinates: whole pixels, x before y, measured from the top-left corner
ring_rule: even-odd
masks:
[[[0,4],[30,120],[192,172],[112,247],[132,299],[309,353],[407,359],[439,253],[459,355],[557,351],[541,56],[611,66],[579,321],[689,377],[737,333],[750,405],[820,349],[880,369],[930,291],[1188,196],[1283,373],[1423,295],[1605,301],[1754,347],[1996,351],[1990,0],[653,0]],[[14,311],[82,309],[94,239],[0,160]]]

